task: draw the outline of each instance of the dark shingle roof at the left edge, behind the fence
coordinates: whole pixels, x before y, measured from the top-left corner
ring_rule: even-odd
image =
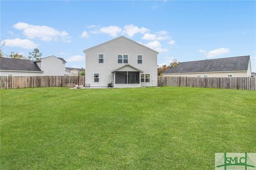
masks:
[[[34,61],[15,58],[0,58],[0,70],[42,72]]]

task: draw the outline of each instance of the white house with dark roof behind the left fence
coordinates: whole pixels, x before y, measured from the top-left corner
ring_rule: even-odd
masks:
[[[0,58],[0,75],[9,76],[42,76],[69,75],[65,70],[63,58],[49,56],[37,61],[14,58]]]

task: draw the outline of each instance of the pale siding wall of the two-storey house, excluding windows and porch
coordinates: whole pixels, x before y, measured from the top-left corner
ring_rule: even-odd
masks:
[[[98,62],[98,55],[104,54],[104,63]],[[114,82],[111,71],[124,64],[117,63],[118,54],[127,54],[128,63],[144,73],[150,74],[150,82],[141,86],[157,86],[157,53],[125,38],[119,38],[85,52],[85,81],[90,86],[107,86]],[[137,63],[137,55],[142,55],[142,64]],[[100,82],[93,82],[94,73],[100,74]]]

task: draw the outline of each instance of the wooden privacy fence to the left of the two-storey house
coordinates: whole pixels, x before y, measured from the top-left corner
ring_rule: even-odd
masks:
[[[29,76],[8,77],[0,76],[0,89],[18,89],[31,87],[75,87],[78,84],[85,86],[85,76]]]

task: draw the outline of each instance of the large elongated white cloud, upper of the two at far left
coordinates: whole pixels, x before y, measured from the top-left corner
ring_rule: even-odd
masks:
[[[13,27],[18,30],[23,30],[22,33],[30,39],[39,38],[43,41],[56,41],[61,38],[63,41],[70,41],[66,31],[58,31],[45,25],[30,25],[25,22],[18,22],[14,24]]]

